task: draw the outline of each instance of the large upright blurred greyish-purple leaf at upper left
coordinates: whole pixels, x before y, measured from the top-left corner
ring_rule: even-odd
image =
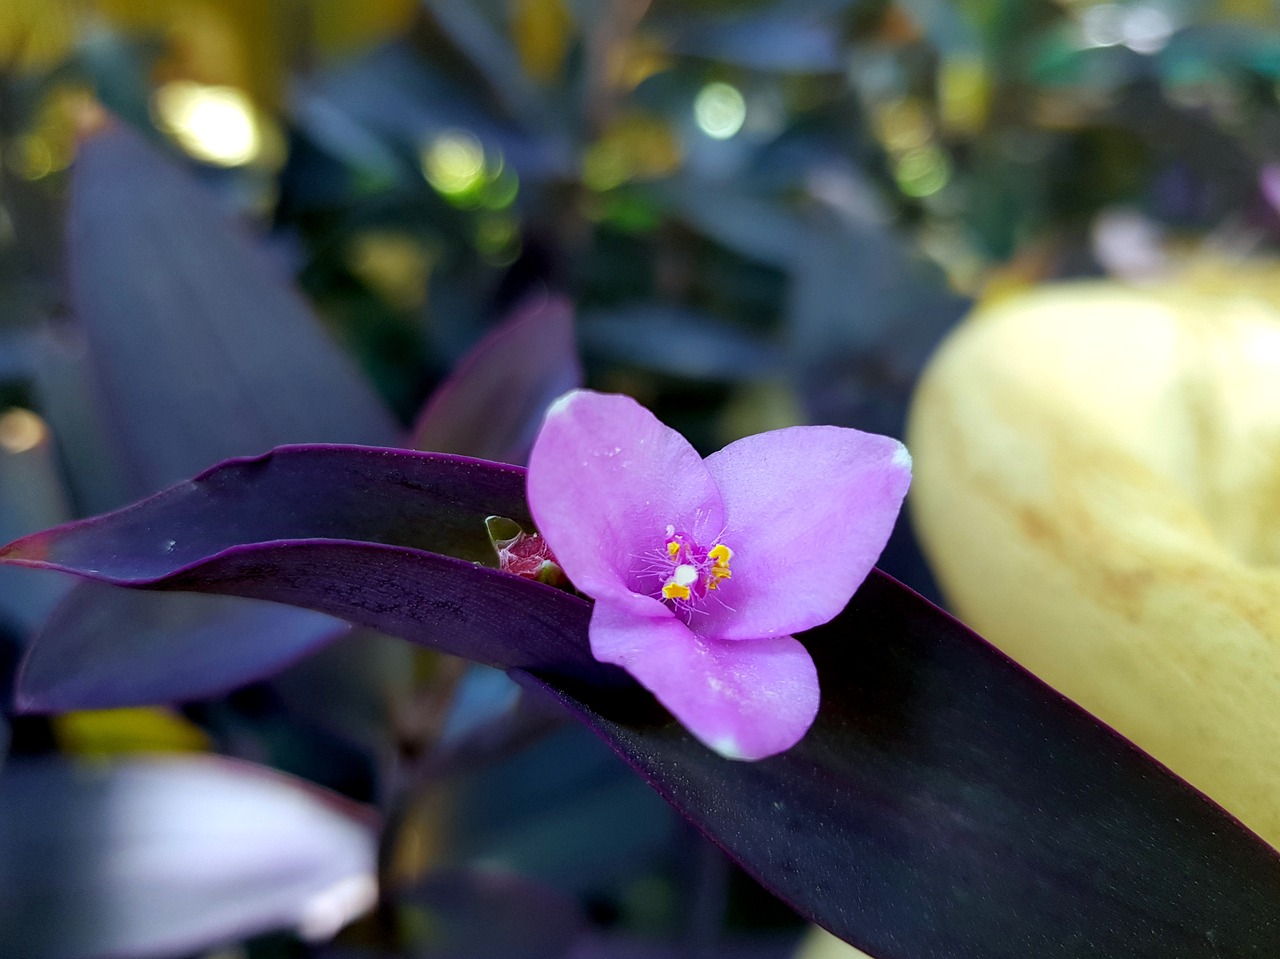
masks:
[[[68,229],[74,314],[138,494],[280,443],[398,440],[279,270],[125,127],[81,146]]]

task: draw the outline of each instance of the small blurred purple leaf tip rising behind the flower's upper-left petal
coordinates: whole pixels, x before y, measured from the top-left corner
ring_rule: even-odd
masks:
[[[526,307],[467,353],[420,416],[411,446],[524,463],[550,402],[581,385],[567,301]]]

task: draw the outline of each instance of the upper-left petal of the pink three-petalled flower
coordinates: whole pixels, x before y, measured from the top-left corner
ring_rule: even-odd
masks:
[[[529,457],[529,508],[573,584],[596,599],[639,588],[667,526],[714,536],[719,493],[701,457],[635,399],[575,389]]]

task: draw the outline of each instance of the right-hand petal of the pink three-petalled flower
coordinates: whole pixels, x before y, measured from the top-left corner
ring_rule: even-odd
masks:
[[[800,633],[827,622],[884,548],[911,481],[890,437],[840,426],[760,433],[707,458],[724,502],[733,577],[694,630],[717,639]]]

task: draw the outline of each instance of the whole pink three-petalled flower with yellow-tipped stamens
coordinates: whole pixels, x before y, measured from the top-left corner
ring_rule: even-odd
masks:
[[[791,634],[845,607],[910,479],[888,437],[795,426],[703,460],[634,399],[573,391],[534,443],[529,504],[595,599],[595,658],[721,755],[763,759],[818,712],[813,659]]]

